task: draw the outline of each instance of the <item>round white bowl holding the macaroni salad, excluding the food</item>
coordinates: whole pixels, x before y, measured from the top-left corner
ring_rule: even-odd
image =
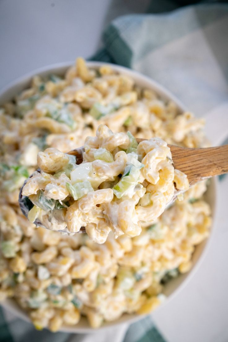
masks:
[[[72,64],[73,63],[54,64],[54,65],[47,66],[41,69],[37,69],[33,71],[32,73],[29,73],[25,75],[24,77],[15,80],[14,82],[10,83],[5,89],[3,89],[0,92],[0,105],[3,104],[5,101],[11,100],[11,98],[15,96],[18,92],[29,87],[31,78],[34,75],[46,76],[49,74],[57,74],[61,76],[65,73],[66,69]],[[87,64],[89,67],[98,68],[100,65],[104,63],[87,62]],[[146,87],[146,88],[156,91],[156,93],[158,93],[162,98],[164,98],[164,100],[168,100],[168,99],[173,100],[178,105],[180,111],[186,110],[185,106],[174,95],[172,95],[169,91],[167,91],[164,87],[162,87],[157,82],[151,80],[150,78],[144,75],[137,73],[136,71],[130,70],[128,68],[121,67],[115,64],[110,64],[110,66],[114,70],[118,71],[119,73],[131,76],[135,80],[138,86]],[[215,226],[216,195],[217,195],[217,180],[213,178],[206,192],[206,201],[210,204],[211,209],[212,209],[213,227]],[[211,228],[211,234],[210,234],[209,239],[204,240],[203,242],[201,242],[201,244],[197,245],[195,248],[195,251],[192,256],[193,267],[191,268],[191,271],[186,274],[179,275],[177,278],[170,280],[164,286],[163,293],[167,296],[167,299],[164,301],[162,306],[165,305],[167,301],[169,301],[170,298],[174,296],[174,294],[176,294],[180,289],[182,289],[186,285],[187,280],[190,279],[190,276],[192,276],[195,273],[196,268],[199,266],[199,262],[202,261],[202,258],[207,251],[209,240],[211,239],[211,237],[212,237],[212,228]],[[1,304],[4,308],[13,312],[16,316],[26,321],[30,321],[26,312],[24,312],[13,299],[7,299]],[[92,329],[89,326],[88,321],[85,318],[82,318],[80,322],[77,324],[77,326],[75,327],[64,326],[61,328],[61,330],[65,332],[72,332],[72,333],[88,333],[88,332],[100,331],[108,327],[116,327],[117,325],[120,325],[123,323],[130,324],[130,323],[133,323],[134,321],[142,319],[142,317],[143,316],[139,316],[136,314],[131,314],[131,315],[124,314],[118,320],[113,321],[113,322],[106,322],[101,328],[96,329],[96,330]]]

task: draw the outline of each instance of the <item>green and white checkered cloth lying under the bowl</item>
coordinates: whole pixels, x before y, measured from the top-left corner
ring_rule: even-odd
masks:
[[[117,63],[155,79],[197,115],[228,106],[228,5],[201,4],[170,13],[115,19],[92,60]],[[227,107],[228,108],[228,107]],[[0,342],[165,342],[148,316],[93,334],[36,331],[0,310]]]

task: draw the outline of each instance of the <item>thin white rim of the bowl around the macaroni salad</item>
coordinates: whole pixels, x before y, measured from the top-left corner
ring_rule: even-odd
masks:
[[[67,70],[73,64],[74,64],[74,62],[72,62],[72,61],[71,62],[51,64],[48,66],[44,66],[41,68],[34,69],[33,71],[26,73],[22,77],[19,77],[19,78],[15,79],[14,81],[11,81],[10,83],[8,83],[5,87],[3,87],[0,90],[0,104],[4,103],[5,101],[9,101],[10,98],[12,98],[13,94],[15,95],[17,88],[20,88],[20,87],[26,88],[26,83],[28,84],[33,76],[35,76],[35,75],[43,75],[44,76],[44,75],[48,75],[52,72],[55,72],[57,74],[58,73],[61,74],[61,73],[64,73],[64,70]],[[97,61],[86,61],[86,64],[92,68],[98,68],[99,66],[104,65],[104,64],[109,65],[114,70],[116,70],[117,72],[131,76],[134,79],[136,84],[140,83],[141,81],[143,83],[147,83],[148,87],[155,90],[157,93],[159,93],[159,95],[161,97],[164,97],[166,99],[170,99],[170,100],[174,101],[181,111],[187,110],[187,108],[182,104],[182,102],[179,101],[178,98],[175,95],[173,95],[169,90],[167,90],[165,87],[163,87],[157,81],[139,73],[138,71],[135,71],[135,70],[132,70],[132,69],[120,66],[120,65],[116,65],[116,64],[97,62]],[[6,98],[6,100],[3,100],[4,98]],[[165,299],[165,301],[163,303],[161,303],[161,305],[156,309],[156,311],[161,310],[161,308],[163,308],[163,306],[166,305],[168,301],[172,300],[177,295],[177,293],[179,291],[181,291],[186,286],[187,282],[190,281],[190,279],[193,277],[193,275],[197,272],[197,269],[199,268],[201,262],[203,261],[205,255],[206,255],[206,253],[210,247],[210,242],[212,240],[212,236],[213,236],[214,230],[215,230],[216,213],[217,213],[217,190],[218,190],[217,179],[214,177],[212,179],[211,183],[212,183],[211,187],[213,188],[213,191],[214,191],[214,203],[212,203],[212,205],[210,203],[210,206],[212,209],[212,218],[213,218],[213,222],[212,222],[212,225],[210,228],[210,235],[206,240],[204,240],[203,250],[200,253],[198,260],[196,261],[195,265],[186,274],[186,278],[184,280],[182,280],[181,284],[179,286],[177,286],[177,288]],[[29,316],[27,315],[27,313],[25,311],[23,311],[23,309],[20,308],[18,305],[16,305],[16,307],[15,307],[15,305],[11,304],[11,301],[14,301],[14,300],[13,299],[7,299],[7,300],[1,302],[1,305],[7,311],[12,312],[17,317],[22,318],[23,320],[31,323],[31,320],[30,320]],[[117,327],[117,326],[124,325],[124,324],[130,325],[130,324],[132,324],[138,320],[143,319],[145,316],[147,316],[147,315],[124,314],[119,319],[117,319],[115,321],[106,322],[103,326],[101,326],[98,329],[94,329],[94,328],[91,328],[89,326],[88,327],[84,326],[84,327],[80,328],[80,327],[77,327],[77,325],[73,326],[73,327],[65,325],[65,326],[61,327],[61,329],[59,329],[59,331],[68,332],[68,333],[100,332],[102,330],[110,329],[110,328]]]

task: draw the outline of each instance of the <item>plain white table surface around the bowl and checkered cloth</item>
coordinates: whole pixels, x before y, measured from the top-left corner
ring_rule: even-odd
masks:
[[[140,5],[138,0],[0,0],[0,89],[35,68],[91,56],[112,18],[143,12],[147,4],[148,0],[140,0]],[[228,341],[227,190],[228,177],[219,185],[216,231],[198,271],[153,314],[168,342]]]

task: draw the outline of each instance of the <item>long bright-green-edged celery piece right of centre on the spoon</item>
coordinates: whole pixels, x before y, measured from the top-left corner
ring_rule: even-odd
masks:
[[[126,195],[136,186],[139,179],[139,173],[139,168],[136,168],[132,164],[125,167],[120,181],[112,188],[113,193],[117,198],[121,198],[123,195]]]

